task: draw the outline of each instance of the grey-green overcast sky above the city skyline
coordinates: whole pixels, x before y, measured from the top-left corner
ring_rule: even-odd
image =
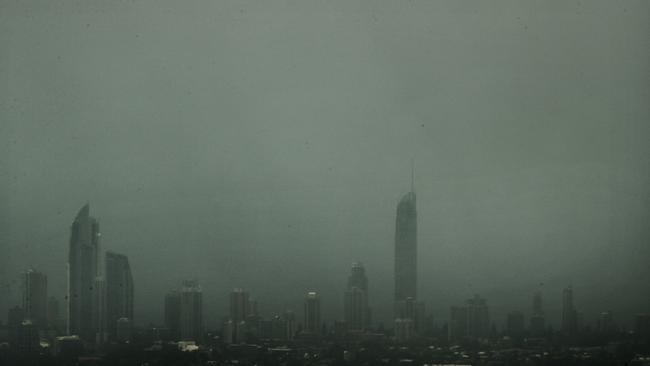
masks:
[[[648,1],[0,0],[0,312],[63,300],[90,202],[136,322],[185,278],[210,328],[244,287],[342,317],[353,261],[389,322],[415,159],[419,291],[500,325],[574,286],[585,321],[650,312]],[[5,315],[2,315],[5,320]],[[6,320],[5,320],[6,321]]]

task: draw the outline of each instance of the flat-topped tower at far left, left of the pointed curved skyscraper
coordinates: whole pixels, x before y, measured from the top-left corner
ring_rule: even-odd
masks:
[[[37,329],[45,329],[47,323],[47,276],[29,269],[24,274],[23,309],[25,318]]]

